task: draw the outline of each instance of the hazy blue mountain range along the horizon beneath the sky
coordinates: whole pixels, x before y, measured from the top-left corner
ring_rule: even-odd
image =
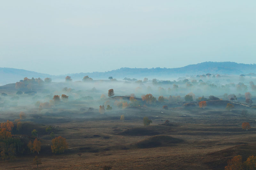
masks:
[[[198,74],[249,74],[253,76],[256,73],[256,64],[243,64],[235,62],[204,62],[198,64],[191,64],[180,68],[120,68],[117,70],[111,70],[106,72],[92,72],[92,73],[75,73],[68,74],[71,78],[76,80],[82,80],[86,75],[93,79],[108,79],[112,76],[117,79],[126,78],[171,78],[180,77],[186,75],[198,75]],[[53,81],[64,81],[67,75],[53,76],[49,74],[37,73],[34,71],[13,69],[13,68],[0,68],[0,85],[8,83],[15,83],[24,77],[28,78],[52,78]]]

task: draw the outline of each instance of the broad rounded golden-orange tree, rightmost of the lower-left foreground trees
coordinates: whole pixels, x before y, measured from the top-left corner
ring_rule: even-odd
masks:
[[[66,149],[68,149],[68,144],[66,142],[66,139],[64,137],[55,137],[52,139],[52,153],[63,153]]]

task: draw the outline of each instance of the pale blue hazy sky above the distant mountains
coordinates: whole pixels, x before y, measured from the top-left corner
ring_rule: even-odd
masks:
[[[256,63],[255,0],[12,0],[0,67],[48,74]]]

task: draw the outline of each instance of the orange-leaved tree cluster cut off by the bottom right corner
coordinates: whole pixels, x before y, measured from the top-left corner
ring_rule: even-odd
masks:
[[[253,170],[256,169],[256,156],[249,156],[246,161],[242,161],[242,156],[237,155],[228,160],[228,165],[225,166],[225,170]]]

